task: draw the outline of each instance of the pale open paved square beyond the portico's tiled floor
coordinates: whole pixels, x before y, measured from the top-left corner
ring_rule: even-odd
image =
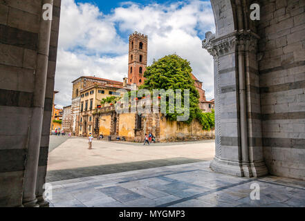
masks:
[[[51,138],[57,147],[48,155],[47,182],[201,162],[212,160],[215,152],[214,140],[149,146],[93,140],[93,149],[89,150],[85,138],[66,139],[63,143],[64,137]]]

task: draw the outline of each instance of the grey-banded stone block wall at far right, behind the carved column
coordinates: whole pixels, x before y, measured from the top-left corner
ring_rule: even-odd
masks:
[[[261,1],[259,79],[271,174],[305,180],[305,1]]]

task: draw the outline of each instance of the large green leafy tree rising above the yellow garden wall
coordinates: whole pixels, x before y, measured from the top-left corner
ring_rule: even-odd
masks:
[[[154,61],[151,66],[147,66],[144,77],[146,78],[144,84],[140,86],[143,89],[181,89],[182,105],[184,104],[183,89],[190,89],[190,118],[186,123],[190,124],[193,119],[198,119],[203,129],[210,130],[214,127],[214,112],[202,113],[198,106],[199,93],[192,78],[192,68],[189,61],[178,55],[167,55]],[[175,121],[178,115],[183,115],[183,113],[178,114],[176,108],[175,113],[168,113],[167,102],[167,119]]]

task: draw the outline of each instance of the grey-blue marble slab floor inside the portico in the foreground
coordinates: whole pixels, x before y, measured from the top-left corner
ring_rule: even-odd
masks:
[[[305,206],[305,182],[214,173],[209,161],[50,182],[50,206]],[[259,184],[260,200],[250,185]]]

